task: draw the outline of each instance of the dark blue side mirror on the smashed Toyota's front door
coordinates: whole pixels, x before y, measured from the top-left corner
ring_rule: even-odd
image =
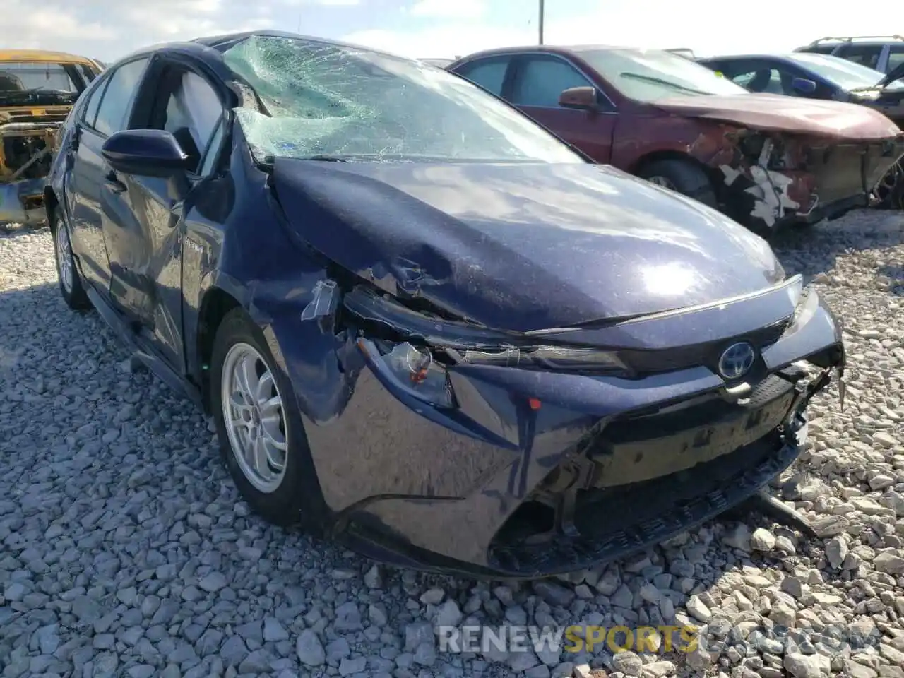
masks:
[[[100,149],[109,165],[122,174],[168,178],[188,169],[188,155],[162,129],[125,129],[110,135]]]

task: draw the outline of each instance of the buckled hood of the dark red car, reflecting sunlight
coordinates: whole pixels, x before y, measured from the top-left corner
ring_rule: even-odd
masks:
[[[875,141],[901,135],[899,127],[880,112],[843,101],[750,93],[669,97],[656,100],[654,106],[691,118],[838,139]]]

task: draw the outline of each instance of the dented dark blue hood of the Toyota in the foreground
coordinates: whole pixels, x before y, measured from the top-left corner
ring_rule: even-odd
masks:
[[[607,165],[278,158],[290,228],[397,297],[499,330],[640,315],[770,287],[765,240]]]

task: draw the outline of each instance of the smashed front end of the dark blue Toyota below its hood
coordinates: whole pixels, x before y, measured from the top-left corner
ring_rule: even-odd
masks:
[[[271,328],[299,384],[331,532],[419,569],[535,578],[709,520],[796,459],[807,403],[844,363],[831,311],[799,278],[718,305],[510,336],[503,352],[490,349],[496,333],[362,287],[318,289]],[[562,336],[607,349],[566,352],[572,368],[551,369],[516,345]],[[747,381],[726,382],[712,356],[739,336],[757,362]],[[293,344],[335,358],[317,363]],[[437,345],[457,358],[419,362]],[[802,360],[822,372],[808,381]]]

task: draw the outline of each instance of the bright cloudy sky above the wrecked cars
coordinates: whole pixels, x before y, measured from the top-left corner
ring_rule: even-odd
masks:
[[[155,42],[250,28],[339,38],[415,57],[536,43],[536,0],[3,0],[0,44],[115,60]],[[830,34],[882,33],[880,12],[841,0],[546,0],[546,42],[790,50]]]

